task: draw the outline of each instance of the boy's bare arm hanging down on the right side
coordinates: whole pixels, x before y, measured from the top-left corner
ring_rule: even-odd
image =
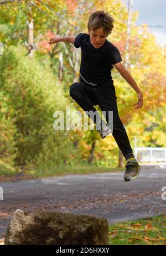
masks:
[[[129,74],[129,72],[126,70],[126,68],[122,65],[121,62],[118,62],[116,64],[113,64],[114,67],[116,67],[117,71],[120,72],[121,76],[123,78],[125,78],[125,80],[129,83],[129,85],[131,85],[134,90],[137,92],[138,94],[138,102],[135,105],[138,105],[137,107],[135,107],[135,109],[139,109],[139,107],[143,106],[143,95],[141,90],[139,89],[139,87],[137,86],[137,83],[133,80],[132,76]]]

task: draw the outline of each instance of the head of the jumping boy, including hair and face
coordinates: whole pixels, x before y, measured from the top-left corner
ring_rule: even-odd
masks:
[[[114,19],[105,11],[93,12],[87,24],[91,44],[95,48],[100,48],[106,41],[106,37],[111,34]]]

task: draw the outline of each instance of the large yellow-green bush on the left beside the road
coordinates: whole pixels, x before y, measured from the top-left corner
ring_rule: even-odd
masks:
[[[1,97],[8,99],[0,117],[6,130],[2,158],[15,152],[15,165],[38,168],[70,162],[70,131],[53,129],[54,111],[65,112],[68,101],[48,62],[30,59],[22,46],[4,47],[0,72]]]

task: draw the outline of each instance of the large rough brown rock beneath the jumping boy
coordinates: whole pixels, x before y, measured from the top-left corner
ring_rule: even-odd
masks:
[[[5,245],[106,245],[108,222],[89,215],[16,210],[6,230]]]

